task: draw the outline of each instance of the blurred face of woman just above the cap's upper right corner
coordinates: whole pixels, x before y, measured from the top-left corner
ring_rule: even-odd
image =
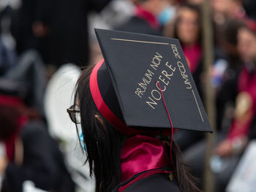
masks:
[[[200,9],[195,5],[186,5],[178,11],[174,23],[174,37],[183,45],[200,42]]]

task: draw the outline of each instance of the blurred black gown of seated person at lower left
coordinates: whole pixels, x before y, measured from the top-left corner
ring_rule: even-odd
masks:
[[[4,191],[21,192],[26,180],[31,180],[37,188],[45,191],[75,191],[57,142],[50,137],[43,123],[26,125],[20,139],[23,143],[23,164],[8,164]]]

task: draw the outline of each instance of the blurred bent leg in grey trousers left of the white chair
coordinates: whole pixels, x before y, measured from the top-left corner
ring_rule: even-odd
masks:
[[[27,89],[23,99],[26,106],[37,110],[42,117],[45,115],[43,101],[47,75],[44,62],[36,50],[28,50],[21,54],[17,64],[9,69],[4,77],[22,82]]]

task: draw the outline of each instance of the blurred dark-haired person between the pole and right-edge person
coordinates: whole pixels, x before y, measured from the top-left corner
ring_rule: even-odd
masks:
[[[227,20],[219,34],[219,55],[212,67],[212,85],[216,91],[217,131],[227,131],[237,96],[237,79],[242,61],[238,54],[238,29],[241,20]]]

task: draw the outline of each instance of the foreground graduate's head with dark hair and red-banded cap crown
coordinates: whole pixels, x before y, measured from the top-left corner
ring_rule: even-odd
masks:
[[[144,131],[127,126],[121,128],[124,119],[103,61],[83,70],[77,82],[74,104],[77,105],[74,112],[80,111],[86,161],[91,175],[94,174],[96,191],[111,191],[121,179],[120,153],[125,140]],[[114,120],[110,113],[114,114]]]

